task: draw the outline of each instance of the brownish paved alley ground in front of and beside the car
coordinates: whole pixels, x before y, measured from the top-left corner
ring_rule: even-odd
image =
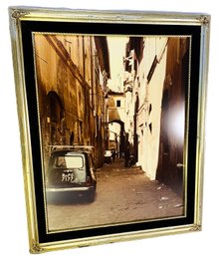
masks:
[[[72,199],[48,204],[50,231],[158,219],[183,214],[183,201],[170,188],[150,181],[139,167],[120,159],[97,170],[94,202]]]

